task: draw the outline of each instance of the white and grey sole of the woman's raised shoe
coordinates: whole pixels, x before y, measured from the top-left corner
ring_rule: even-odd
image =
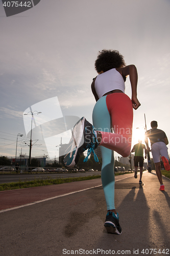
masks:
[[[78,148],[81,146],[80,144],[84,134],[84,121],[85,117],[82,117],[72,129],[72,137],[67,149],[65,150],[65,152],[69,152],[64,156],[64,164],[67,167],[74,167],[76,164],[75,158],[78,152]]]

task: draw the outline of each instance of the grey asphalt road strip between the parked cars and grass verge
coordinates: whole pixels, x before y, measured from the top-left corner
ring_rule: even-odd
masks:
[[[60,174],[0,174],[0,184],[17,181],[29,181],[34,179],[56,179],[101,175],[101,172],[79,172],[79,173],[60,173]]]

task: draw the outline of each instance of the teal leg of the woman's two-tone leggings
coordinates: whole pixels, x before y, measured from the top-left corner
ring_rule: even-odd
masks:
[[[111,118],[106,105],[106,97],[100,98],[93,109],[92,119],[96,130],[110,132]],[[108,129],[108,130],[107,130]],[[107,209],[114,206],[114,151],[100,146],[102,152],[102,185],[105,194]]]

